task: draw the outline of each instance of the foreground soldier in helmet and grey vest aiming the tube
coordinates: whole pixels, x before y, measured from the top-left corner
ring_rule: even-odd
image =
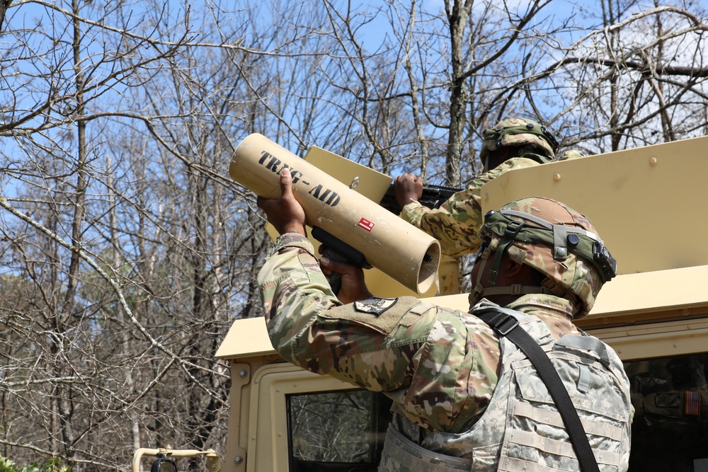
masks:
[[[627,470],[622,362],[573,325],[615,275],[586,217],[539,197],[488,214],[465,313],[371,297],[360,269],[318,262],[289,171],[280,185],[279,200],[258,199],[280,233],[258,275],[271,342],[293,364],[392,398],[379,470]],[[339,299],[323,270],[343,274]],[[518,338],[551,367],[529,362],[537,352]]]

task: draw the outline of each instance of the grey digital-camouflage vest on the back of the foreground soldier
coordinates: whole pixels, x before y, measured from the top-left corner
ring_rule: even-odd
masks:
[[[539,342],[568,389],[600,469],[627,471],[632,405],[622,362],[596,338],[566,335],[555,340],[539,318],[519,314],[520,327]],[[462,434],[429,432],[416,444],[409,439],[413,435],[406,437],[400,431],[413,431],[416,426],[396,415],[379,471],[579,470],[543,381],[516,345],[506,338],[500,341],[501,376],[479,421]],[[459,456],[450,456],[452,451]]]

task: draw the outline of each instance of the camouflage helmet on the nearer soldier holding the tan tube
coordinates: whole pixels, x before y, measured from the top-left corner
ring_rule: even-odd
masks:
[[[603,284],[615,277],[615,259],[590,221],[549,198],[525,198],[488,212],[480,237],[481,263],[492,267],[487,287],[476,281],[472,302],[489,294],[554,294],[575,301],[574,318],[581,318],[593,308]],[[493,287],[505,253],[545,275],[543,287]]]

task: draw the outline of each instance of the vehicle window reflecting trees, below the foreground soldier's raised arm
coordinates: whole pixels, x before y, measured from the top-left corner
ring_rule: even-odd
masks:
[[[365,390],[288,396],[290,470],[376,471],[390,407]]]

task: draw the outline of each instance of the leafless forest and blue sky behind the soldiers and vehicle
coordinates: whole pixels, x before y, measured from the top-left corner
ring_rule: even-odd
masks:
[[[700,2],[253,3],[0,0],[1,456],[224,452],[214,354],[269,243],[248,134],[456,186],[504,117],[583,154],[708,134]]]

